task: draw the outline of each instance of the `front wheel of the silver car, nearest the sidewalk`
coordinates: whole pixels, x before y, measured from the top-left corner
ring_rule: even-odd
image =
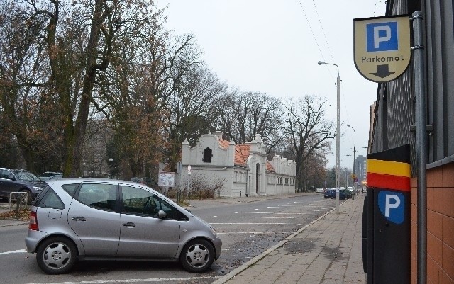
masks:
[[[214,261],[213,245],[205,239],[193,239],[184,246],[179,261],[189,272],[206,271]]]

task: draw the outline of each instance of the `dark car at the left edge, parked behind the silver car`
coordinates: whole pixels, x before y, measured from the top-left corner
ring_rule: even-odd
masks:
[[[31,203],[47,185],[30,171],[0,168],[0,198],[9,198],[12,192],[25,192]]]

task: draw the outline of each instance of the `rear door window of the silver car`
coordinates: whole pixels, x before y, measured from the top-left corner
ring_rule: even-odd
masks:
[[[77,200],[94,208],[116,209],[116,186],[114,184],[84,183],[80,186]]]

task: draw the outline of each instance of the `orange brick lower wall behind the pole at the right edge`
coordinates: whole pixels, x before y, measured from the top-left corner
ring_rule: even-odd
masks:
[[[411,180],[411,283],[416,284],[416,178]],[[427,283],[454,284],[454,163],[427,170]]]

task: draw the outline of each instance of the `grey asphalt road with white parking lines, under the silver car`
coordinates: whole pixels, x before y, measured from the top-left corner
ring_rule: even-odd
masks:
[[[72,272],[48,276],[35,254],[25,251],[27,225],[0,227],[0,283],[212,283],[292,232],[334,208],[323,195],[213,205],[191,211],[212,224],[221,239],[221,258],[206,273],[188,273],[179,263],[82,261]]]

